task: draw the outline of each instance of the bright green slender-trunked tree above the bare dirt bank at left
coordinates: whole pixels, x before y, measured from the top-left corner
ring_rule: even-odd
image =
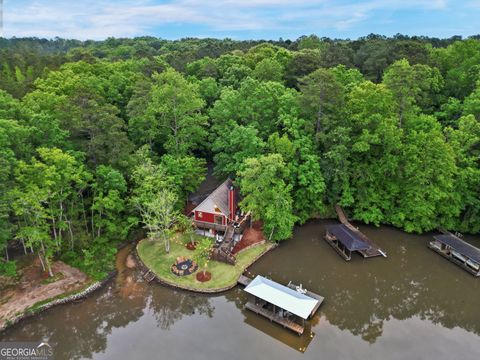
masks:
[[[89,179],[83,166],[60,149],[38,149],[39,158],[20,161],[15,170],[17,187],[12,190],[13,211],[22,218],[17,238],[35,249],[50,276],[51,260],[68,238],[73,248],[72,206]],[[50,236],[53,234],[53,237]],[[68,235],[67,235],[68,234]]]

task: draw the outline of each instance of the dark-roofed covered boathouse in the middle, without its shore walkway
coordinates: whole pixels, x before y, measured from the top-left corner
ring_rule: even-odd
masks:
[[[325,240],[346,261],[352,258],[352,252],[363,252],[370,249],[370,245],[358,233],[352,231],[344,224],[327,226]]]

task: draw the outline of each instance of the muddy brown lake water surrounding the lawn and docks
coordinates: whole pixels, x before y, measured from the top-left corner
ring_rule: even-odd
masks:
[[[480,279],[426,247],[430,235],[360,226],[388,258],[341,259],[310,222],[250,270],[325,296],[298,337],[217,296],[139,282],[123,267],[89,299],[51,309],[0,335],[44,339],[56,359],[479,359]],[[480,246],[479,238],[467,238]]]

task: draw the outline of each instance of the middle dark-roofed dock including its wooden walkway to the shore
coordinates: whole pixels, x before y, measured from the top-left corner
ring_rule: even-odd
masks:
[[[339,242],[341,243],[342,240],[338,239],[332,233],[327,231],[325,235],[325,240],[345,259],[351,259],[351,252],[357,251],[360,253],[364,258],[375,257],[375,256],[383,256],[387,257],[385,251],[383,251],[380,246],[370,240],[365,234],[363,234],[360,230],[358,230],[355,226],[353,226],[350,221],[348,221],[345,212],[343,211],[340,205],[335,205],[335,211],[337,213],[338,219],[343,225],[343,229],[341,232],[344,233],[344,237],[349,238],[347,241],[349,244],[342,244],[343,246],[339,246]],[[351,246],[349,246],[351,245]],[[350,248],[349,248],[350,247]]]

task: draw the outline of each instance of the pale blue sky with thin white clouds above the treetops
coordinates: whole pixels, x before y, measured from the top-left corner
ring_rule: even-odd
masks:
[[[480,0],[0,0],[4,37],[356,39],[480,33]]]

